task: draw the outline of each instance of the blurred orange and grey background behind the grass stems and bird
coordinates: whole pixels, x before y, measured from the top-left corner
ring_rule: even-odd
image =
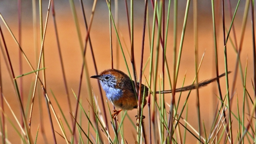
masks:
[[[91,9],[94,1],[83,1],[86,18],[89,22],[91,16]],[[84,47],[84,41],[86,37],[86,29],[83,21],[83,15],[81,11],[81,6],[79,1],[74,1],[76,14],[78,16],[78,22],[80,27],[80,33],[82,37],[82,48]],[[184,21],[184,13],[186,8],[187,1],[182,0],[178,1],[178,27],[177,27],[177,48],[180,44],[181,31],[183,27]],[[56,12],[56,22],[58,28],[58,34],[60,39],[61,52],[64,61],[64,69],[67,77],[68,89],[70,94],[70,99],[72,103],[72,110],[75,111],[76,99],[73,95],[72,91],[75,94],[78,93],[78,86],[80,81],[80,73],[83,64],[83,57],[81,51],[81,45],[78,39],[78,34],[74,22],[73,13],[71,11],[70,2],[67,0],[54,0],[55,4],[55,12]],[[237,1],[232,1],[231,3],[231,11],[234,13],[236,8]],[[165,8],[167,11],[168,1],[165,1]],[[226,28],[229,29],[231,18],[228,11],[228,3],[225,1],[225,23]],[[129,1],[128,1],[129,7]],[[199,71],[199,81],[209,79],[215,77],[215,57],[214,57],[214,39],[213,39],[213,24],[212,24],[212,11],[211,11],[211,1],[198,1],[198,59],[200,60],[204,54],[203,62]],[[241,37],[241,25],[242,18],[244,15],[245,1],[241,1],[238,7],[238,11],[236,14],[236,18],[234,20],[234,28],[236,30],[236,39],[238,40],[238,45]],[[42,16],[43,16],[43,27],[45,25],[45,18],[48,9],[48,1],[42,1]],[[131,70],[131,64],[129,62],[130,55],[130,40],[129,40],[129,30],[127,24],[127,16],[125,11],[125,3],[124,1],[118,1],[118,12],[114,12],[115,4],[112,1],[112,10],[114,18],[117,17],[118,14],[118,22],[116,21],[116,25],[118,26],[118,34],[121,39],[121,44],[124,48],[124,53],[128,62],[129,69]],[[222,17],[221,17],[221,1],[216,1],[215,3],[216,10],[216,25],[217,25],[217,47],[218,47],[218,58],[219,58],[219,73],[225,72],[224,67],[224,48],[223,48],[223,32],[222,32]],[[11,0],[2,0],[0,1],[0,12],[3,18],[6,20],[9,25],[11,31],[15,35],[16,39],[20,39],[20,45],[26,56],[29,58],[29,61],[33,65],[34,68],[37,67],[38,64],[38,55],[40,50],[40,24],[39,24],[39,3],[36,1],[36,29],[33,28],[33,11],[32,11],[32,2],[31,1],[22,1],[21,2],[21,35],[18,36],[19,24],[18,24],[18,2]],[[141,39],[142,39],[142,30],[143,30],[143,14],[144,14],[144,1],[134,1],[134,48],[135,48],[135,66],[136,69],[139,69],[140,66],[140,57],[141,57]],[[150,22],[150,32],[152,31],[152,19],[153,19],[153,10],[151,3],[148,4],[148,15]],[[167,12],[166,12],[167,16]],[[241,51],[241,66],[243,68],[243,72],[246,66],[246,61],[248,60],[248,69],[247,69],[247,82],[248,92],[253,94],[253,87],[251,79],[253,78],[253,53],[252,53],[252,30],[251,30],[251,15],[248,14],[248,20],[246,23],[246,30],[244,35],[244,40],[242,43],[242,51]],[[165,18],[166,19],[166,18]],[[14,68],[15,76],[21,75],[19,72],[20,69],[20,59],[19,59],[19,48],[15,43],[14,39],[11,37],[9,31],[4,25],[3,21],[0,20],[1,29],[3,31],[3,35],[5,38],[5,42],[7,45],[7,49],[10,54],[11,62]],[[112,30],[113,34],[113,63],[114,68],[120,69],[127,73],[126,66],[124,64],[124,59],[122,58],[122,54],[120,53],[119,45],[117,44],[115,31]],[[94,50],[94,55],[97,63],[98,71],[101,72],[105,69],[111,68],[111,59],[110,59],[110,30],[109,30],[109,13],[108,6],[106,1],[97,1],[94,19],[91,25],[90,37]],[[171,2],[171,10],[170,10],[170,21],[169,21],[169,31],[167,33],[167,53],[166,58],[168,61],[170,74],[173,75],[173,2]],[[230,39],[234,41],[234,32],[231,31]],[[3,46],[1,39],[1,47]],[[117,52],[118,51],[118,52]],[[61,73],[61,65],[59,60],[59,54],[57,49],[57,42],[55,36],[55,30],[53,25],[53,17],[52,10],[50,9],[50,15],[48,19],[48,25],[45,35],[45,43],[44,43],[44,53],[45,53],[45,72],[46,72],[46,83],[47,83],[47,91],[48,95],[55,107],[56,113],[60,113],[56,103],[53,100],[52,93],[56,96],[58,102],[61,104],[61,108],[64,111],[65,116],[70,122],[70,112],[67,103],[67,97],[64,90],[63,78]],[[146,65],[146,61],[148,60],[150,55],[149,48],[149,38],[148,31],[146,31],[145,38],[145,53],[144,53],[144,65]],[[0,54],[0,66],[1,66],[1,77],[2,77],[2,86],[1,89],[3,91],[4,96],[7,101],[10,103],[10,106],[15,112],[15,115],[21,121],[20,108],[17,100],[17,96],[15,93],[15,89],[13,86],[13,80],[10,76],[10,72],[8,69],[10,68],[6,61],[4,60],[4,56],[6,53],[1,49]],[[234,71],[237,54],[234,50],[231,42],[227,43],[227,61],[228,61],[228,70]],[[30,72],[28,64],[25,59],[22,60],[22,73]],[[94,71],[94,66],[92,65],[92,56],[91,51],[89,50],[89,45],[86,51],[86,61],[89,69],[89,76],[96,75]],[[161,76],[161,59],[159,59],[159,77]],[[232,86],[233,82],[233,74],[229,75],[230,86]],[[148,79],[149,75],[149,65],[146,65],[144,75],[146,79]],[[186,79],[184,85],[190,85],[195,77],[195,44],[194,44],[194,35],[193,35],[193,4],[190,2],[189,15],[187,21],[187,28],[185,32],[183,50],[181,55],[181,66],[178,75],[178,83],[177,87],[181,87],[183,83],[184,75],[186,75]],[[42,77],[42,73],[39,73],[39,77]],[[25,109],[30,109],[31,101],[27,101],[31,96],[31,92],[34,87],[34,74],[26,75],[22,81],[23,87],[23,104]],[[83,76],[82,83],[82,91],[81,97],[83,102],[83,107],[88,110],[89,108],[89,97],[87,93],[87,83],[89,77]],[[20,78],[17,79],[18,83],[20,83]],[[89,79],[91,81],[91,86],[93,88],[95,96],[99,96],[99,88],[97,86],[97,80]],[[145,77],[143,80],[145,81]],[[170,89],[168,86],[167,80],[165,80],[166,86],[165,89]],[[223,94],[226,94],[225,88],[225,78],[220,80]],[[20,84],[19,84],[20,87]],[[44,130],[48,143],[52,143],[52,133],[50,131],[49,125],[49,117],[45,106],[45,100],[42,96],[41,88],[37,88],[38,92],[35,97],[35,105],[32,114],[31,121],[31,133],[33,139],[35,139],[37,127],[39,126],[39,134],[37,143],[45,143],[42,137],[42,130]],[[238,74],[238,78],[236,81],[236,86],[234,88],[234,96],[238,97],[238,102],[241,102],[243,96],[243,86],[240,74]],[[182,93],[184,97],[181,96],[181,101],[184,101],[185,96],[187,96],[188,92]],[[219,93],[217,91],[217,83],[211,83],[207,87],[201,88],[199,90],[200,95],[200,107],[201,107],[201,119],[206,126],[206,130],[210,130],[211,124],[213,121],[213,114],[216,111],[217,105],[220,105],[218,96]],[[232,94],[233,95],[233,94]],[[105,99],[105,93],[103,94]],[[166,95],[166,102],[170,103],[170,94]],[[39,99],[42,100],[42,113],[39,113]],[[233,111],[236,113],[236,99],[234,99]],[[99,102],[100,104],[101,102]],[[106,103],[106,102],[105,102]],[[188,122],[197,129],[197,109],[196,109],[196,92],[192,91],[189,97],[189,112],[188,112]],[[110,104],[110,108],[112,109],[112,105]],[[239,106],[242,104],[239,103]],[[10,120],[17,126],[17,123],[14,120],[9,108],[7,105],[4,105],[5,113],[10,118]],[[168,108],[167,108],[168,109]],[[241,110],[241,107],[239,107]],[[148,107],[145,107],[145,116],[147,117]],[[29,110],[28,110],[29,111]],[[136,110],[128,111],[128,115],[134,118],[135,123],[135,115],[137,115]],[[40,121],[40,117],[42,117],[42,121]],[[84,117],[84,116],[83,116]],[[53,118],[54,126],[57,132],[60,133],[60,130],[57,126],[56,120]],[[108,122],[110,124],[110,114],[108,114]],[[83,125],[87,126],[88,121],[84,118]],[[136,136],[136,129],[131,129],[129,125],[131,122],[125,119],[125,139],[128,143],[134,143]],[[235,126],[238,126],[237,121],[233,121]],[[70,122],[71,124],[71,122]],[[146,130],[148,126],[148,122],[145,122]],[[10,122],[6,121],[6,129],[8,140],[12,143],[20,143],[20,138],[17,133],[11,126]],[[65,127],[65,126],[64,126]],[[233,131],[236,132],[237,127],[233,128]],[[20,130],[19,130],[20,131]],[[110,132],[113,136],[113,131]],[[70,137],[70,135],[68,136]],[[63,143],[65,142],[62,137],[56,134],[57,142]],[[188,134],[187,139],[191,143],[196,143],[196,139]],[[107,143],[107,141],[105,142]]]

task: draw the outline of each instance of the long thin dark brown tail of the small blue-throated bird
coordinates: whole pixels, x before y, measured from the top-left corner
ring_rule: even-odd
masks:
[[[229,74],[231,71],[228,71],[227,74]],[[215,80],[221,78],[221,77],[224,77],[226,74],[223,73],[221,75],[219,75],[218,77],[215,77],[215,78],[212,78],[212,79],[209,79],[209,80],[203,80],[201,82],[198,83],[198,88],[202,88],[204,86],[207,86],[209,83],[211,82],[214,82]],[[192,84],[192,85],[189,85],[189,86],[185,86],[185,87],[182,87],[182,88],[176,88],[175,89],[175,92],[181,92],[181,91],[189,91],[189,90],[192,90],[192,89],[195,89],[197,87],[197,84]],[[167,94],[167,93],[172,93],[173,90],[165,90],[165,91],[156,91],[156,94]]]

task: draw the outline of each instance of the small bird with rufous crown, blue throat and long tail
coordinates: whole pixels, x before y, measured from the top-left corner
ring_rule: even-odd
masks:
[[[228,72],[228,74],[230,71]],[[198,88],[201,88],[203,86],[208,85],[211,82],[214,82],[215,80],[219,79],[220,77],[225,76],[225,73],[219,75],[219,77],[215,77],[209,80],[204,80],[198,83]],[[106,96],[108,99],[112,102],[112,104],[115,107],[120,108],[121,110],[113,110],[114,113],[112,114],[112,118],[116,118],[118,113],[120,113],[122,110],[132,110],[138,107],[138,101],[136,98],[136,91],[133,90],[131,80],[128,75],[126,75],[124,72],[117,70],[117,69],[106,69],[103,72],[101,72],[99,75],[91,76],[91,78],[99,79],[99,82],[101,84],[102,89],[106,92]],[[134,86],[135,82],[132,81]],[[137,82],[137,85],[139,86],[139,83]],[[189,86],[181,87],[175,89],[176,92],[181,91],[188,91],[196,88],[196,84],[192,84]],[[143,100],[143,92],[145,88],[145,96],[148,96],[148,87],[141,84],[141,91],[140,91],[140,103],[142,104]],[[156,94],[166,94],[171,93],[172,90],[164,90],[164,91],[156,91]],[[147,100],[144,99],[143,106],[146,105]]]

